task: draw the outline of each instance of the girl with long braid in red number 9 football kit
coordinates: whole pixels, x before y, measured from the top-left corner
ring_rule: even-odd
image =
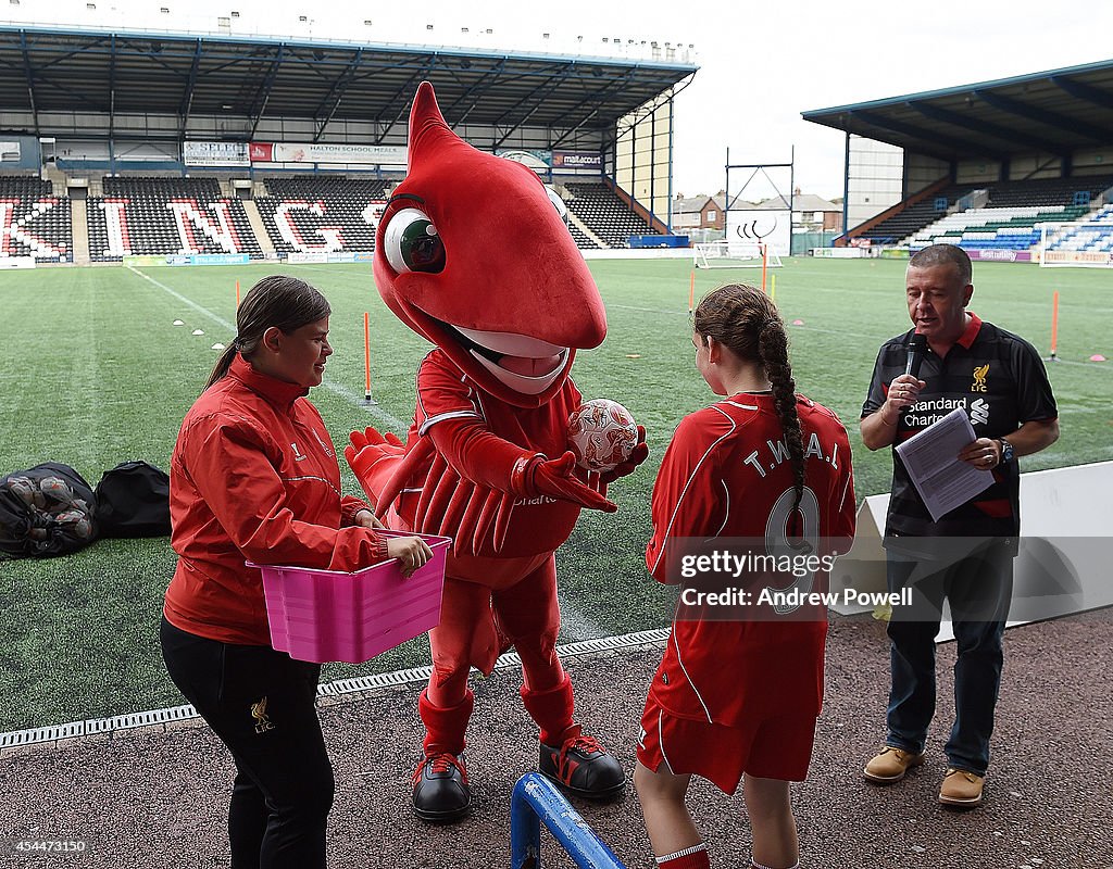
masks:
[[[693,330],[696,367],[727,397],[686,416],[664,454],[646,552],[650,572],[669,584],[690,577],[681,565],[696,564],[693,543],[736,557],[746,549],[791,552],[807,566],[845,552],[855,525],[846,429],[795,393],[774,304],[750,286],[720,287],[700,300]],[[826,579],[821,567],[759,575],[760,587],[777,591],[821,591]],[[684,806],[693,774],[726,793],[743,781],[754,867],[799,865],[789,782],[805,778],[811,758],[826,610],[781,616],[791,608],[759,605],[757,587],[751,583],[748,600],[733,599],[741,601],[733,609],[678,608],[653,677],[634,784],[657,862],[667,869],[710,866]]]

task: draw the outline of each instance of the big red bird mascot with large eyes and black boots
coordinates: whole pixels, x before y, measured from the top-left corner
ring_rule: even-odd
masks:
[[[390,527],[454,539],[430,633],[433,674],[417,703],[425,751],[413,803],[424,820],[469,810],[469,671],[490,674],[510,646],[541,729],[541,772],[589,799],[626,788],[618,761],[572,718],[555,652],[554,551],[582,507],[617,508],[607,484],[649,451],[639,429],[631,456],[601,476],[568,451],[581,403],[569,371],[578,348],[602,343],[607,319],[563,209],[531,170],[460,139],[421,85],[408,174],[380,221],[374,268],[383,300],[435,348],[417,368],[405,445],[368,428],[352,434],[345,455]]]

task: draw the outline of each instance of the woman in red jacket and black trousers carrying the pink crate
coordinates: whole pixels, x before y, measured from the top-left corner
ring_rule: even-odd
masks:
[[[407,575],[432,551],[385,539],[341,495],[328,431],[306,398],[333,349],[324,296],[263,278],[238,335],[186,414],[170,461],[171,544],[162,655],[175,684],[232,751],[232,866],[325,866],[333,772],[317,720],[321,665],[270,646],[259,571],[246,561],[352,571],[385,559]]]

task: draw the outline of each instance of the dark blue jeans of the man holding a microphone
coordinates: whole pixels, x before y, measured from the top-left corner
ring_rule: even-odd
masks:
[[[954,539],[942,543],[949,547]],[[886,744],[924,750],[935,715],[935,638],[943,601],[958,643],[955,662],[955,721],[944,747],[957,769],[984,776],[1001,689],[1002,636],[1013,594],[1013,552],[1007,541],[972,545],[959,557],[918,560],[889,551],[888,586],[913,589],[910,606],[894,608],[889,621],[892,688]]]

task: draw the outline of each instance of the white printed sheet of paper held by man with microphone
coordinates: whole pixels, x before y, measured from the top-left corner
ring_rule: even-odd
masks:
[[[992,472],[978,471],[955,457],[975,440],[966,411],[956,407],[897,445],[897,453],[935,522],[993,485]]]

